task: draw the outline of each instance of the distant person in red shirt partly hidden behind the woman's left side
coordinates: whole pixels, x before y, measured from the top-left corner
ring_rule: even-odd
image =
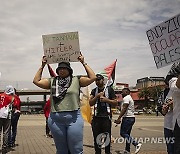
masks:
[[[51,103],[50,103],[50,99],[48,99],[48,101],[46,102],[46,104],[44,106],[44,116],[46,117],[46,137],[52,138],[52,135],[50,133],[50,129],[48,127],[48,117],[50,114],[50,109],[51,109]]]

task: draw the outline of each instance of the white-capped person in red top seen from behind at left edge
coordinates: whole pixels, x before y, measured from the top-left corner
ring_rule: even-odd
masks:
[[[13,86],[8,85],[4,93],[0,94],[0,112],[3,107],[11,108],[11,104],[14,101],[15,91]],[[8,134],[9,128],[11,125],[11,112],[8,113],[7,117],[0,117],[0,139],[1,139],[1,132],[3,130],[3,144],[2,144],[2,153],[6,153],[8,150]],[[0,140],[1,141],[1,140]],[[0,142],[1,143],[1,142]]]

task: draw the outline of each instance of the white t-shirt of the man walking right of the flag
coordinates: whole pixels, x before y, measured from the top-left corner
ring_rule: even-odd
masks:
[[[130,95],[127,95],[123,98],[122,106],[123,104],[129,104],[123,117],[135,117],[134,116],[134,101]]]

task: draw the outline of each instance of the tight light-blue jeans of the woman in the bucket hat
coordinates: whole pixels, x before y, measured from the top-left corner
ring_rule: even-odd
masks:
[[[83,154],[84,122],[77,111],[51,112],[48,125],[53,135],[57,154]]]

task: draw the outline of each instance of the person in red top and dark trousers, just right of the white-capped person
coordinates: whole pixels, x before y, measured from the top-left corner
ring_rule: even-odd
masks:
[[[8,136],[9,147],[15,147],[17,125],[18,125],[20,114],[21,114],[21,111],[20,111],[21,100],[16,93],[16,89],[14,89],[14,91],[15,91],[15,95],[14,95],[13,111],[12,111],[12,117],[11,117],[11,127],[9,131],[9,136]]]

